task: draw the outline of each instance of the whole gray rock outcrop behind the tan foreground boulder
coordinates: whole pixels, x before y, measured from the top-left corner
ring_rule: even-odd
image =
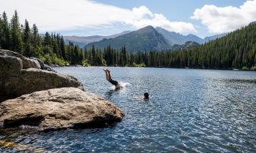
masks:
[[[83,84],[70,75],[41,69],[42,61],[26,58],[10,50],[0,50],[0,102],[31,92],[51,88],[76,87]]]

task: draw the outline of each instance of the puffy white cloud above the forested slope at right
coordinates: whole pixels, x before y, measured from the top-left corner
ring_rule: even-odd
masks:
[[[210,33],[226,33],[256,20],[256,1],[245,1],[240,7],[204,5],[191,18],[201,20]]]

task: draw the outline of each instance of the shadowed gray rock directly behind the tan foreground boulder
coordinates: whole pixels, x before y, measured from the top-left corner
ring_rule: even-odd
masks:
[[[16,77],[5,77],[0,80],[0,101],[15,98],[31,92],[51,88],[76,87],[83,90],[83,84],[70,75],[63,75],[41,69],[21,69]]]

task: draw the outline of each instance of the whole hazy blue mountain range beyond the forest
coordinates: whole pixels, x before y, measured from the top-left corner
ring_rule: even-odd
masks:
[[[145,34],[143,32],[147,36],[150,34],[150,31],[154,31],[155,34],[158,33],[157,39],[160,41],[156,42],[156,40],[149,39],[150,37],[147,37],[147,39],[144,39],[145,37],[142,36],[141,30],[147,33]],[[128,33],[132,33],[132,34],[119,38],[119,36],[126,35]],[[165,40],[162,40],[162,38],[160,38],[161,37],[160,35],[162,35],[162,37]],[[97,48],[100,48],[100,49],[103,49],[104,47],[111,45],[115,49],[119,49],[119,48],[122,48],[122,46],[126,46],[128,50],[138,51],[138,50],[167,50],[167,49],[173,48],[174,45],[175,45],[174,48],[180,48],[187,41],[194,41],[194,42],[197,42],[198,44],[204,44],[205,42],[212,41],[214,39],[223,37],[225,35],[227,35],[227,33],[223,33],[220,35],[213,35],[213,36],[205,37],[204,39],[201,39],[197,35],[193,35],[193,34],[182,35],[180,33],[167,31],[166,29],[162,29],[160,27],[156,27],[156,29],[154,29],[153,27],[148,26],[146,30],[139,29],[138,31],[124,31],[122,33],[117,33],[115,35],[109,35],[109,36],[92,35],[88,37],[79,37],[79,36],[63,36],[63,37],[66,41],[66,44],[68,44],[68,42],[70,41],[74,45],[78,45],[81,48],[84,48],[85,46],[87,46],[87,48],[88,47],[90,48],[92,44],[94,44]],[[141,39],[139,39],[139,37],[141,37]],[[114,39],[114,38],[117,38],[117,39]],[[149,41],[149,40],[152,40],[152,41]],[[146,44],[145,43],[146,41],[149,41],[149,43],[154,42],[155,44]],[[180,45],[180,46],[177,46],[177,45]]]

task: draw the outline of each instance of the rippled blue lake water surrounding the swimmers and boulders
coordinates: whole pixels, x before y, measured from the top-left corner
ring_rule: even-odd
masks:
[[[256,152],[255,71],[109,67],[114,80],[127,84],[115,91],[102,68],[55,69],[122,108],[122,122],[102,129],[2,130],[0,152]],[[141,101],[144,92],[149,101]]]

